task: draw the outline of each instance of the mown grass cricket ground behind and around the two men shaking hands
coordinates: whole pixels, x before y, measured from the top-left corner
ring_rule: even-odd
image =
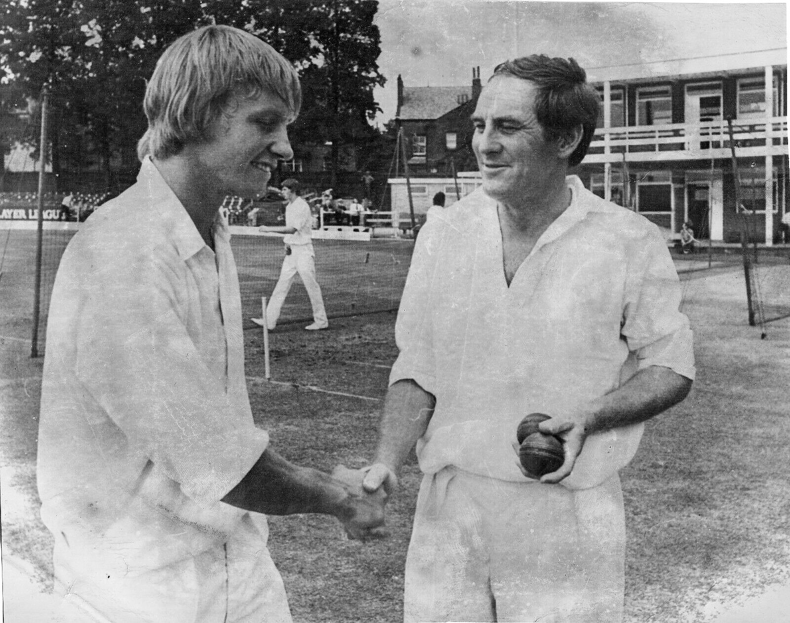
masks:
[[[0,242],[4,236],[0,231]],[[260,295],[271,291],[281,259],[275,241],[254,240],[235,241],[245,317],[258,315]],[[317,245],[319,280],[330,315],[334,310],[338,317],[329,331],[304,332],[297,320],[307,317],[309,306],[296,283],[285,322],[270,335],[273,378],[295,385],[262,380],[261,331],[245,332],[254,414],[289,459],[329,471],[371,456],[381,403],[306,386],[382,398],[396,355],[395,314],[360,310],[397,302],[409,251],[402,241]],[[381,270],[372,269],[371,257],[365,263],[367,253]],[[46,583],[51,545],[38,520],[35,490],[42,360],[28,357],[26,341],[33,263],[29,242],[14,238],[0,278],[2,546],[30,561]],[[649,422],[638,455],[622,474],[629,623],[709,621],[723,604],[790,576],[790,262],[775,253],[758,269],[769,318],[766,340],[746,323],[736,255],[717,255],[711,269],[704,256],[677,265],[683,310],[695,332],[698,380],[686,401]],[[47,265],[46,274],[53,270]],[[378,300],[367,302],[368,296]],[[359,308],[351,306],[355,301]],[[391,536],[381,542],[347,541],[337,522],[322,516],[270,519],[269,546],[295,621],[401,621],[418,484],[412,460],[389,505]],[[11,613],[6,621],[13,621]]]

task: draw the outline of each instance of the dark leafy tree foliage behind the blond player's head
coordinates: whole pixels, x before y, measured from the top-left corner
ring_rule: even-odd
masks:
[[[0,9],[3,81],[37,97],[51,93],[55,167],[95,150],[130,152],[145,129],[142,97],[157,58],[205,24],[260,37],[303,79],[294,142],[338,144],[370,137],[384,83],[375,0],[6,0]],[[128,156],[127,156],[128,157]]]

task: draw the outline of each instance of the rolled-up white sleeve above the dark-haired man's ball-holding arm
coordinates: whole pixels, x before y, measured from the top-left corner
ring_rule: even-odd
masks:
[[[638,369],[662,366],[693,380],[693,335],[679,309],[683,290],[666,242],[651,229],[631,253],[622,335],[637,356]]]

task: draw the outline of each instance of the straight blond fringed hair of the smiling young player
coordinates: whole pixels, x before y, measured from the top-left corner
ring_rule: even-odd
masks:
[[[302,88],[293,66],[268,43],[231,26],[204,26],[176,39],[156,62],[145,88],[149,127],[137,156],[164,160],[209,130],[235,96],[276,93],[295,117]]]

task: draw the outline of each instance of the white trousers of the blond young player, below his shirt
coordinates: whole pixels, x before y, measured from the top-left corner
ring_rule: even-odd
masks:
[[[55,535],[55,589],[64,599],[51,621],[292,623],[280,572],[254,529],[242,526],[228,542],[162,567],[127,568],[122,558],[111,543],[77,547]]]

